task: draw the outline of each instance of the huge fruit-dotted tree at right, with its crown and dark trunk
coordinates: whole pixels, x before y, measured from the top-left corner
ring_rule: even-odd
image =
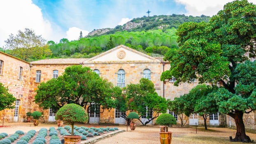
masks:
[[[239,142],[251,142],[242,118],[244,113],[255,110],[251,100],[254,89],[247,95],[237,92],[242,83],[237,77],[237,65],[248,60],[248,54],[255,56],[255,17],[256,5],[235,0],[227,3],[209,23],[182,24],[177,30],[180,47],[166,53],[165,60],[172,62],[171,68],[161,75],[162,81],[174,76],[175,85],[198,78],[200,83],[222,86],[214,93],[214,99],[220,112],[235,119],[237,132],[233,141]],[[250,71],[254,71],[254,67],[250,67]],[[246,83],[252,81],[248,79]]]

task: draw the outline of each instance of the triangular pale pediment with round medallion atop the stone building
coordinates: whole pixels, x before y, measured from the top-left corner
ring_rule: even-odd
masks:
[[[144,53],[131,49],[124,45],[119,45],[84,61],[86,63],[123,63],[123,62],[156,62],[161,60],[148,56]]]

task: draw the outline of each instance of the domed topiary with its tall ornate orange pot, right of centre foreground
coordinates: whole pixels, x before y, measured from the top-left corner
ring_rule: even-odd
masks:
[[[170,144],[172,142],[172,132],[168,132],[167,126],[177,124],[175,117],[171,114],[161,114],[156,118],[156,124],[165,126],[165,132],[159,132],[161,144]]]

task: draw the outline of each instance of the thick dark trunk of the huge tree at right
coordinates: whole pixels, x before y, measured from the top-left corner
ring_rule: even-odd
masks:
[[[231,142],[251,142],[250,137],[245,134],[243,115],[244,113],[242,111],[230,114],[230,116],[235,119],[236,125],[235,138],[232,139]]]

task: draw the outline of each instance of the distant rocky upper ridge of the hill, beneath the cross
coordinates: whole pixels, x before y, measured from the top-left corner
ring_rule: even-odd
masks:
[[[99,36],[106,34],[113,34],[117,31],[127,30],[130,31],[147,31],[147,30],[156,30],[162,29],[165,31],[170,28],[178,28],[178,26],[184,22],[208,22],[210,16],[185,16],[184,14],[172,14],[172,15],[160,15],[160,16],[144,16],[142,18],[135,18],[131,21],[128,21],[123,26],[116,26],[115,28],[102,28],[98,30],[93,30],[88,34],[87,37]]]

